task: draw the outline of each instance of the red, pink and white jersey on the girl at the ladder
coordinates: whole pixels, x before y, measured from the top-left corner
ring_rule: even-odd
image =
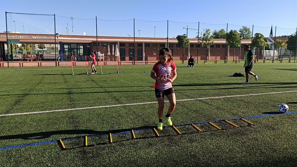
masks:
[[[168,79],[171,78],[171,73],[175,70],[176,66],[172,61],[168,62],[166,66],[164,66],[161,61],[157,62],[151,71],[156,73],[158,78],[164,78],[166,81],[161,83],[156,80],[156,89],[165,90],[172,88],[172,83],[169,82]]]

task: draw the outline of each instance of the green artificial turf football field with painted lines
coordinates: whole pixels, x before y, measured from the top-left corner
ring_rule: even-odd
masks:
[[[152,66],[121,65],[119,74],[115,66],[104,66],[103,75],[86,75],[84,67],[74,67],[75,75],[71,67],[1,68],[1,166],[297,166],[296,63],[255,63],[259,81],[250,76],[244,85],[244,77],[230,77],[244,73],[242,63],[176,62],[179,101],[172,122],[181,133],[195,133],[157,130],[175,135],[168,137],[152,130],[158,123],[157,103],[147,103],[156,102]],[[145,104],[122,105],[132,103]],[[287,114],[279,114],[280,103],[289,106]],[[105,107],[86,108],[97,106]],[[81,109],[66,110],[73,108]],[[16,113],[29,114],[7,115]],[[241,117],[255,126],[230,120]],[[225,119],[243,127],[216,122]],[[132,138],[132,129],[138,139],[122,141]],[[63,150],[58,141],[88,135],[89,145],[108,143],[109,133],[115,143],[83,147],[77,138],[64,140],[70,149]]]

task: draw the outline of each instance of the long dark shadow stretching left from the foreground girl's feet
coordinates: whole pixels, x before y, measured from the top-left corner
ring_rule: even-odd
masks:
[[[137,128],[132,128],[135,130],[141,129],[153,129],[156,126],[142,126]],[[18,135],[8,135],[8,136],[0,136],[0,140],[10,140],[10,139],[44,139],[49,138],[52,135],[106,135],[106,134],[114,134],[120,132],[131,131],[132,129],[119,129],[119,130],[108,130],[108,131],[97,131],[97,130],[88,130],[88,129],[80,129],[80,130],[57,130],[57,131],[49,131],[49,132],[38,132],[38,133],[27,133],[27,134],[18,134]]]

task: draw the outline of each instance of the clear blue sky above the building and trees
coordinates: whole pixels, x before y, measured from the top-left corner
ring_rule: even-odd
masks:
[[[133,20],[135,20],[135,37],[167,37],[167,20],[169,20],[169,37],[186,34],[183,27],[198,29],[230,29],[238,30],[242,25],[255,32],[269,35],[271,24],[285,28],[277,29],[278,35],[290,35],[297,26],[297,1],[16,1],[0,0],[0,31],[6,31],[5,11],[33,14],[56,14],[56,32],[60,34],[96,35],[96,19],[98,36],[133,36]],[[8,30],[17,32],[52,34],[54,31],[53,16],[15,15],[8,16]],[[64,17],[60,17],[64,16]],[[81,20],[81,19],[88,20]],[[15,26],[12,22],[15,20]],[[127,21],[105,21],[127,20]],[[139,21],[143,20],[143,21]],[[158,22],[151,22],[158,21]],[[163,22],[162,22],[163,21]],[[182,22],[182,23],[176,23]],[[67,32],[67,23],[68,32]],[[208,23],[208,24],[203,24]],[[222,24],[222,25],[213,25]],[[232,25],[230,25],[232,24]],[[22,25],[25,25],[23,27]],[[235,26],[241,25],[241,26]],[[154,28],[156,26],[156,28]],[[258,27],[255,27],[258,26]],[[16,27],[16,28],[15,28]],[[265,28],[266,27],[266,28]],[[140,30],[140,31],[138,31]],[[197,30],[189,30],[189,38],[195,37]],[[274,33],[274,31],[273,31]],[[128,35],[129,34],[129,35]]]

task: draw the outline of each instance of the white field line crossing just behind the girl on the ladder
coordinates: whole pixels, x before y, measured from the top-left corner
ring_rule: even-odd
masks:
[[[258,94],[241,94],[241,95],[219,96],[219,97],[203,97],[203,98],[195,98],[195,99],[182,99],[182,100],[176,100],[176,101],[217,99],[217,98],[227,98],[227,97],[255,96],[255,95],[263,95],[263,94],[290,93],[290,92],[297,92],[297,90],[285,91],[285,92],[258,93]],[[165,102],[169,102],[169,101],[165,101]],[[58,111],[84,110],[84,109],[93,109],[93,108],[118,107],[118,106],[127,106],[127,105],[152,104],[152,103],[158,103],[158,102],[155,101],[155,102],[146,102],[146,103],[130,103],[130,104],[117,104],[117,105],[103,105],[103,106],[96,106],[96,107],[69,108],[69,109],[62,109],[62,110],[37,111],[37,112],[28,112],[28,113],[15,113],[15,114],[2,114],[2,115],[0,115],[0,117],[1,116],[13,116],[13,115],[50,113],[50,112],[58,112]]]

